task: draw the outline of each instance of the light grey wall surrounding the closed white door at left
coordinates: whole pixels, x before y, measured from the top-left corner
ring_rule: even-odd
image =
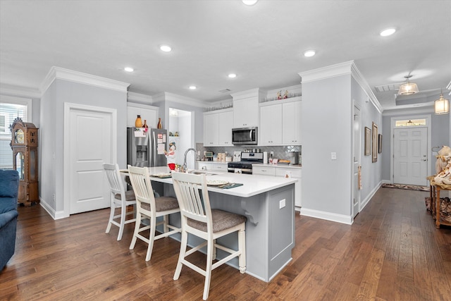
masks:
[[[45,168],[42,169],[39,178],[39,190],[42,201],[55,211],[56,216],[65,210],[63,200],[65,102],[117,109],[117,163],[119,166],[125,166],[127,162],[127,92],[54,80],[42,97],[41,166]]]

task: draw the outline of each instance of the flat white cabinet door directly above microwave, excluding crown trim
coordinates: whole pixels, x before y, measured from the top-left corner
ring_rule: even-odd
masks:
[[[233,128],[259,126],[259,99],[247,97],[233,100]]]

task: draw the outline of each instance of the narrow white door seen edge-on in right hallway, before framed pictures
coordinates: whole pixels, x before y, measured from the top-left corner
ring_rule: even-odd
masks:
[[[357,216],[360,210],[360,181],[359,181],[359,167],[360,167],[360,154],[362,147],[362,126],[360,125],[360,110],[357,106],[354,106],[354,162],[353,162],[353,191],[354,196],[352,198],[352,210],[353,216]]]

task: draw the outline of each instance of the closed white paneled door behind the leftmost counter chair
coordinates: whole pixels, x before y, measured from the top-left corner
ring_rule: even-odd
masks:
[[[102,164],[111,162],[111,112],[70,109],[70,214],[109,207]]]

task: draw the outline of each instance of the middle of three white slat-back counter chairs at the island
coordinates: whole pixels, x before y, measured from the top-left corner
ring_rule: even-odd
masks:
[[[180,212],[175,197],[155,197],[147,167],[128,166],[128,175],[136,197],[136,223],[130,250],[135,247],[136,239],[140,238],[149,244],[147,247],[146,262],[152,257],[154,240],[166,238],[169,235],[180,232],[180,228],[168,223],[168,214]],[[163,216],[163,221],[156,222],[156,218]],[[149,226],[141,225],[143,219],[149,219]],[[163,225],[163,233],[155,235],[156,226]],[[141,232],[150,229],[149,238],[145,238]],[[171,231],[168,231],[171,229]]]

